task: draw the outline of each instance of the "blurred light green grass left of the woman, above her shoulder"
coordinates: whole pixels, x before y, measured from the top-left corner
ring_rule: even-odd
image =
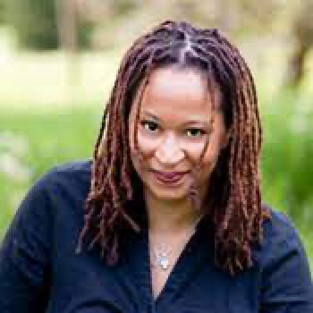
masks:
[[[100,108],[81,107],[59,114],[30,110],[0,115],[0,156],[10,156],[15,162],[13,169],[17,169],[13,175],[0,171],[0,238],[22,197],[40,175],[53,165],[92,156],[100,120]]]

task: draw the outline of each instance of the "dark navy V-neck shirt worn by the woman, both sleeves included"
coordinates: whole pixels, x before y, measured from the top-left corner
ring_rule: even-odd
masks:
[[[147,228],[125,238],[116,266],[107,266],[96,249],[75,254],[89,181],[89,161],[61,165],[22,201],[0,250],[1,313],[313,312],[299,236],[272,209],[261,249],[253,250],[255,265],[235,276],[215,266],[203,219],[157,300]]]

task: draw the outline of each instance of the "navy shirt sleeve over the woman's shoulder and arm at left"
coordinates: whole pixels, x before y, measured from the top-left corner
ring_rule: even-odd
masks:
[[[6,283],[4,294],[9,299],[13,294],[34,297],[45,283],[56,251],[74,245],[83,222],[90,165],[90,161],[79,161],[55,166],[21,201],[0,244],[0,281]],[[0,293],[1,287],[0,283]]]

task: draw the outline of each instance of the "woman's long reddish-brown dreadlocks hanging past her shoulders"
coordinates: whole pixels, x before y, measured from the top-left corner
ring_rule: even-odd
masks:
[[[198,29],[184,21],[162,22],[135,40],[123,56],[94,149],[77,252],[90,233],[89,249],[97,243],[102,258],[106,255],[107,264],[114,265],[123,229],[140,232],[140,219],[129,205],[142,190],[131,165],[128,117],[135,95],[140,93],[141,100],[151,72],[171,64],[198,69],[206,75],[209,94],[214,94],[212,81],[222,93],[231,139],[210,175],[207,207],[215,230],[216,265],[233,275],[253,265],[252,245],[262,241],[262,224],[269,218],[261,204],[258,179],[262,129],[257,94],[238,49],[218,30]],[[139,114],[140,106],[136,125]],[[137,147],[136,142],[137,136]]]

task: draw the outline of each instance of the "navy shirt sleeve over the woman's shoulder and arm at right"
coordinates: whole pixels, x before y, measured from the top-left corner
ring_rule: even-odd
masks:
[[[312,312],[313,285],[309,260],[290,218],[269,208],[258,254],[259,299],[264,308]],[[289,310],[288,310],[289,311]]]

